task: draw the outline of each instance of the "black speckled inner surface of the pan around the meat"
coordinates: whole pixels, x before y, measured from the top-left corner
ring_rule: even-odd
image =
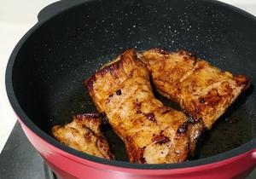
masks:
[[[49,133],[54,124],[71,122],[74,114],[96,113],[83,81],[125,49],[185,49],[252,80],[201,136],[195,159],[224,153],[255,138],[255,21],[211,1],[84,3],[46,21],[26,39],[13,66],[15,96],[28,118]],[[123,142],[108,125],[102,128],[116,159],[127,161]]]

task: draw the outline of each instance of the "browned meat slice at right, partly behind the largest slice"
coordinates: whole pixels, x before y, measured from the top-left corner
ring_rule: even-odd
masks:
[[[201,119],[207,129],[250,84],[245,76],[221,72],[186,51],[151,49],[143,52],[141,59],[160,94],[177,101],[195,120]]]

